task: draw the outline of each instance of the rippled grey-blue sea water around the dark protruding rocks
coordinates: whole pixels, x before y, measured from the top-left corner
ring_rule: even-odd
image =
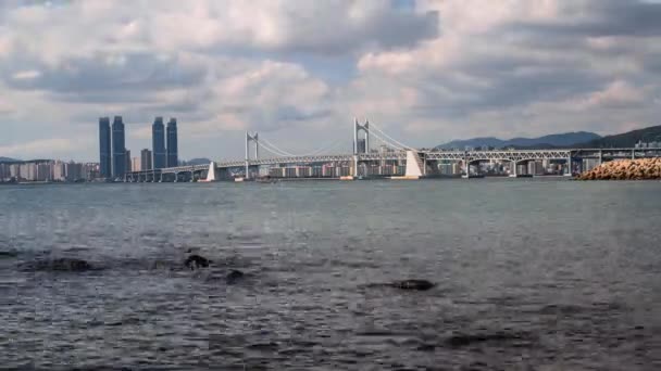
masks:
[[[0,187],[0,368],[661,370],[661,182]]]

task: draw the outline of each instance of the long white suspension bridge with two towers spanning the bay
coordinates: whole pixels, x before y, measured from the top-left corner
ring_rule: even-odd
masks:
[[[421,179],[483,177],[483,164],[510,177],[537,175],[539,167],[572,176],[620,158],[660,157],[661,149],[558,150],[421,150],[409,146],[365,120],[353,120],[352,153],[334,154],[335,141],[316,151],[296,154],[282,150],[258,132],[246,132],[242,159],[132,171],[125,182],[247,181],[264,179]],[[376,140],[376,144],[374,145]],[[267,156],[263,156],[267,152]],[[262,156],[260,156],[262,154]],[[531,166],[535,165],[535,166]],[[541,165],[541,166],[538,166]],[[544,171],[542,171],[544,172]]]

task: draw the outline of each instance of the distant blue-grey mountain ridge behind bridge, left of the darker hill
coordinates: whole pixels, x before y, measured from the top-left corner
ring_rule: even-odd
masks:
[[[512,138],[512,139],[498,139],[494,137],[485,138],[473,138],[466,140],[453,140],[451,142],[440,144],[437,149],[464,149],[465,146],[481,148],[481,146],[516,146],[516,148],[559,148],[559,146],[571,146],[576,143],[585,143],[594,140],[598,140],[601,137],[594,132],[577,131],[577,132],[565,132],[560,135],[550,135],[539,138]]]

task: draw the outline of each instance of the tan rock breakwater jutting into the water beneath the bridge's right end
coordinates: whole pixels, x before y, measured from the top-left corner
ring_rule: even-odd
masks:
[[[585,171],[577,180],[661,179],[661,158],[620,159],[603,163]]]

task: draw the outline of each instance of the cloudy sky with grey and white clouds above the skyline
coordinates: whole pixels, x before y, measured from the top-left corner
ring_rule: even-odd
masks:
[[[179,157],[241,158],[245,131],[349,152],[352,121],[400,142],[618,133],[659,125],[661,2],[0,1],[0,156],[134,154],[176,117]],[[333,146],[335,144],[335,146]]]

